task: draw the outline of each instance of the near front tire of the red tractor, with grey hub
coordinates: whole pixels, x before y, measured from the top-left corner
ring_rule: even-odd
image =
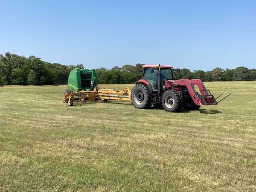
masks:
[[[180,94],[175,90],[167,90],[162,96],[162,105],[165,111],[178,112],[181,108]]]

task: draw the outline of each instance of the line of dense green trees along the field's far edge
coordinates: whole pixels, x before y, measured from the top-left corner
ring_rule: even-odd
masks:
[[[134,83],[141,78],[143,64],[124,65],[112,69],[96,69],[98,82],[105,83]],[[49,85],[67,84],[68,75],[74,68],[84,69],[83,64],[62,65],[41,61],[40,58],[28,58],[6,52],[0,54],[0,85]],[[256,80],[256,69],[237,67],[222,69],[217,67],[211,71],[190,71],[181,69],[179,79],[201,79],[202,81],[250,81]]]

